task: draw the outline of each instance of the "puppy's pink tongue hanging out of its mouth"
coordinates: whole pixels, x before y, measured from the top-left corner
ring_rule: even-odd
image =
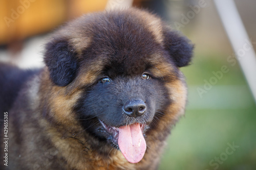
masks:
[[[146,141],[141,132],[140,124],[120,127],[118,145],[127,161],[139,162],[146,151]]]

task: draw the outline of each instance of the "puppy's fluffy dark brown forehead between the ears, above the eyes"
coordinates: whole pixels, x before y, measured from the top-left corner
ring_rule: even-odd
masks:
[[[141,74],[151,64],[150,58],[163,48],[161,28],[152,28],[158,18],[147,17],[148,13],[110,13],[97,18],[92,23],[91,44],[83,56],[103,59],[108,75]]]

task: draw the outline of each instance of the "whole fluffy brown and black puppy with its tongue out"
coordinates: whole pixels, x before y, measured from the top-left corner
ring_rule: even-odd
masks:
[[[138,9],[69,22],[46,44],[46,67],[24,72],[29,78],[12,109],[2,105],[9,120],[3,166],[157,169],[184,113],[179,67],[189,64],[192,51],[185,37]]]

